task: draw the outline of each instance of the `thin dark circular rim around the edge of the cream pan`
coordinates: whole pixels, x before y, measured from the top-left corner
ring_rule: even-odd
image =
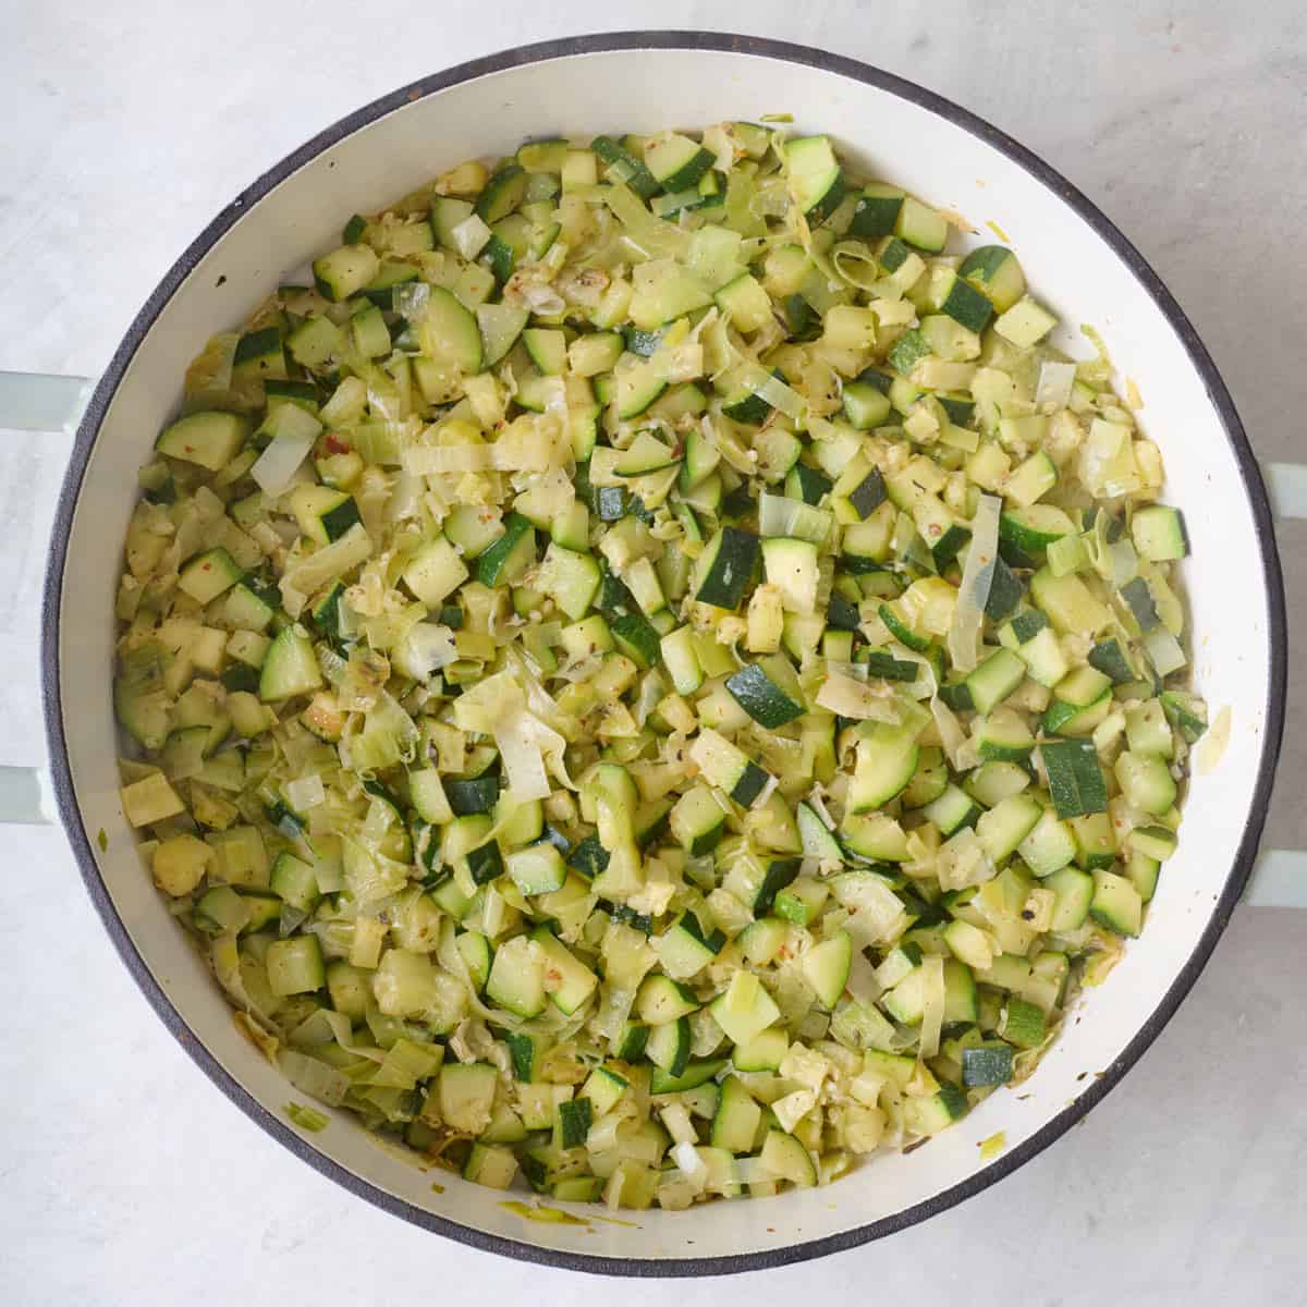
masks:
[[[505,69],[521,67],[524,64],[545,63],[555,59],[566,59],[576,55],[591,55],[605,51],[621,50],[714,50],[731,54],[762,56],[766,59],[784,60],[793,64],[802,64],[810,68],[823,69],[836,73],[852,81],[877,86],[902,99],[910,101],[937,114],[940,118],[963,128],[972,136],[979,137],[985,144],[1005,154],[1009,159],[1023,167],[1031,176],[1042,182],[1050,191],[1055,192],[1070,209],[1087,222],[1094,231],[1114,251],[1117,259],[1125,264],[1134,274],[1136,280],[1153,298],[1157,307],[1171,324],[1175,333],[1183,342],[1189,361],[1202,378],[1212,404],[1225,427],[1226,439],[1234,451],[1243,477],[1244,493],[1252,508],[1253,523],[1257,533],[1257,542],[1261,552],[1263,584],[1266,588],[1268,610],[1270,616],[1269,630],[1269,668],[1266,680],[1265,704],[1265,735],[1263,737],[1261,759],[1257,766],[1257,783],[1253,791],[1252,805],[1248,821],[1239,843],[1239,852],[1225,889],[1218,901],[1213,904],[1212,916],[1202,932],[1193,953],[1180,967],[1166,996],[1157,1009],[1142,1023],[1134,1038],[1129,1042],[1110,1067],[1102,1074],[1089,1082],[1087,1087],[1068,1107],[1059,1112],[1042,1129],[1036,1131],[1018,1146],[1001,1154],[988,1166],[982,1167],[974,1175],[950,1185],[935,1197],[918,1202],[911,1208],[897,1212],[891,1216],[870,1221],[855,1229],[839,1234],[827,1235],[821,1239],[810,1239],[787,1244],[779,1248],[762,1249],[758,1252],[740,1253],[723,1257],[609,1257],[587,1256],[578,1252],[567,1252],[553,1248],[544,1248],[537,1244],[518,1239],[506,1239],[493,1234],[485,1234],[468,1226],[459,1225],[446,1217],[437,1216],[423,1208],[414,1206],[397,1199],[384,1189],[369,1183],[346,1170],[339,1162],[319,1151],[310,1142],[297,1134],[285,1121],[268,1111],[259,1103],[248,1090],[240,1085],[231,1073],[221,1065],[209,1051],[195,1038],[186,1021],[173,1006],[167,995],[150,974],[145,959],[136,950],[127,928],[114,908],[108,891],[101,878],[95,856],[81,822],[77,799],[73,789],[72,775],[68,763],[68,748],[63,720],[63,706],[60,702],[60,673],[59,673],[59,629],[60,629],[60,596],[63,592],[64,567],[67,565],[68,538],[72,529],[73,514],[77,507],[77,498],[81,490],[82,477],[90,459],[91,448],[99,433],[101,423],[108,405],[123,379],[133,356],[149,328],[162,311],[176,289],[182,285],[191,271],[199,264],[234,223],[237,223],[252,204],[265,196],[282,180],[303,167],[311,159],[331,149],[345,137],[367,127],[379,118],[389,114],[405,105],[446,90],[461,82],[485,77],[489,73],[503,72]],[[54,788],[59,804],[60,817],[68,833],[69,842],[81,867],[82,877],[90,897],[105,921],[123,962],[132,972],[136,983],[141,987],[145,997],[150,1001],[159,1018],[167,1029],[178,1038],[182,1047],[199,1064],[204,1073],[239,1107],[251,1120],[261,1125],[278,1142],[284,1144],[291,1153],[302,1158],[310,1166],[329,1176],[337,1184],[344,1185],[352,1193],[366,1199],[369,1202],[391,1212],[395,1216],[412,1221],[414,1225],[433,1230],[488,1252],[498,1252],[505,1256],[518,1257],[523,1261],[537,1263],[540,1265],[562,1266],[572,1270],[587,1270],[610,1276],[704,1276],[729,1274],[744,1270],[763,1270],[769,1266],[786,1265],[788,1263],[804,1261],[809,1257],[821,1257],[826,1253],[840,1252],[881,1239],[885,1235],[904,1230],[908,1226],[925,1221],[929,1217],[946,1212],[949,1208],[968,1199],[982,1189],[988,1188],[996,1180],[1010,1175],[1017,1167],[1029,1162],[1035,1154],[1046,1149],[1053,1140],[1064,1134],[1074,1125],[1090,1108],[1102,1102],[1103,1097],[1116,1084],[1129,1068],[1138,1061],[1144,1051],[1158,1036],[1162,1027],[1171,1019],[1184,996],[1197,980],[1204,965],[1212,954],[1221,932],[1230,920],[1230,915],[1239,902],[1244,884],[1252,869],[1252,861],[1257,851],[1261,836],[1261,827],[1265,821],[1266,806],[1270,801],[1270,787],[1274,775],[1276,759],[1280,753],[1280,738],[1283,729],[1285,715],[1285,677],[1286,677],[1286,621],[1283,604],[1283,584],[1280,571],[1280,557],[1276,550],[1276,540],[1272,529],[1270,507],[1266,491],[1261,481],[1261,473],[1253,457],[1248,439],[1244,435],[1239,416],[1234,403],[1221,379],[1212,357],[1199,339],[1197,332],[1175,302],[1171,293],[1162,284],[1157,273],[1149,267],[1140,252],[1117,230],[1117,227],[1074,186],[1064,176],[1050,167],[1043,159],[1033,154],[1019,142],[1006,133],[992,127],[975,114],[951,103],[933,91],[925,90],[914,82],[878,68],[840,55],[827,54],[822,50],[813,50],[805,46],[795,46],[780,41],[766,41],[757,37],[736,37],[721,33],[701,31],[629,31],[606,33],[589,37],[570,37],[561,41],[541,42],[532,46],[520,46],[485,59],[474,59],[471,63],[459,64],[431,77],[425,77],[409,86],[403,86],[371,105],[357,110],[342,118],[339,123],[320,132],[311,141],[302,145],[293,154],[289,154],[276,167],[265,173],[248,190],[237,196],[196,238],[190,248],[173,265],[163,277],[154,293],[145,302],[145,306],[136,315],[135,322],[123,337],[114,358],[105,375],[101,378],[86,408],[69,460],[68,473],[64,480],[63,491],[55,516],[52,544],[50,549],[50,562],[46,572],[46,588],[42,600],[42,680],[43,680],[43,707],[46,719],[46,736],[51,759],[51,772]]]

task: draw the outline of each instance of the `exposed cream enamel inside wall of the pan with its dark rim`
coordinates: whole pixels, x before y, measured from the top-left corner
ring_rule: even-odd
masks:
[[[677,88],[674,122],[668,85]],[[962,216],[976,229],[975,243],[995,239],[995,230],[1012,240],[1040,298],[1070,328],[1097,327],[1123,376],[1138,384],[1146,430],[1166,455],[1168,495],[1191,508],[1185,582],[1199,687],[1212,704],[1230,706],[1234,729],[1221,765],[1193,780],[1179,853],[1167,863],[1145,937],[1072,1014],[1021,1100],[997,1093],[925,1148],[878,1158],[833,1188],[685,1213],[622,1213],[630,1225],[538,1223],[505,1208],[511,1196],[452,1176],[440,1175],[444,1192],[434,1193],[430,1174],[346,1116],[311,1136],[285,1119],[285,1082],[233,1025],[123,821],[111,608],[136,469],[178,404],[187,362],[213,331],[237,324],[306,255],[331,246],[350,213],[523,137],[612,128],[614,106],[620,125],[635,131],[788,110],[797,131],[833,132],[869,174]],[[1067,344],[1087,348],[1074,331]],[[583,38],[455,68],[329,128],[223,210],[141,311],[81,425],[44,622],[63,818],[124,961],[200,1067],[271,1134],[379,1206],[482,1248],[626,1274],[757,1269],[880,1238],[985,1188],[1099,1102],[1192,985],[1238,899],[1283,703],[1285,620],[1260,477],[1201,342],[1120,233],[1014,141],[918,86],[818,51],[702,34]],[[1117,1098],[1114,1108],[1128,1103]],[[985,1163],[978,1144],[999,1131],[1006,1148]]]

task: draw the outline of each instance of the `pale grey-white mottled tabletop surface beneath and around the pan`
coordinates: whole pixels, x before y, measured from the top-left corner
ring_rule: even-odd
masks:
[[[552,14],[567,17],[554,18]],[[1170,282],[1257,452],[1302,456],[1307,21],[1217,5],[47,0],[0,46],[0,369],[101,370],[208,217],[323,124],[506,46],[595,29],[736,27],[916,78],[1082,186]],[[383,14],[374,21],[371,14]],[[614,110],[620,106],[614,106]],[[0,439],[0,762],[42,755],[35,604],[67,442]],[[1286,532],[1307,599],[1303,527]],[[1302,664],[1299,664],[1300,667]],[[1302,689],[1303,672],[1294,673]],[[1307,839],[1304,718],[1272,831]],[[426,1302],[596,1281],[528,1270],[383,1216],[274,1148],[193,1068],[112,953],[54,830],[5,835],[0,1302]],[[1069,1137],[984,1197],[822,1263],[678,1285],[1039,1307],[1307,1297],[1307,914],[1240,910],[1191,1000]],[[924,1285],[929,1287],[923,1287]],[[670,1286],[668,1286],[669,1289]],[[668,1289],[635,1283],[631,1303]],[[899,1299],[903,1300],[903,1299]]]

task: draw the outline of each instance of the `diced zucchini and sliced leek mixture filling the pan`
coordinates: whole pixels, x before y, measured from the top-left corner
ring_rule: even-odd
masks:
[[[1140,933],[1184,524],[950,221],[826,136],[537,141],[195,361],[123,808],[299,1091],[498,1188],[775,1193],[1027,1076]]]

